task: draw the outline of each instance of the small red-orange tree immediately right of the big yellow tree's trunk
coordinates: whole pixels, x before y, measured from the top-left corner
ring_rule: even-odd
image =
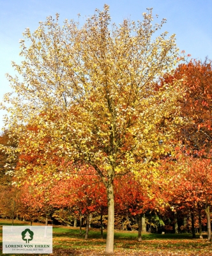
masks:
[[[128,216],[138,218],[139,241],[142,240],[142,217],[146,212],[158,209],[161,199],[153,172],[150,170],[149,167],[149,171],[143,173],[140,179],[135,179],[132,173],[128,173],[114,180],[116,212],[127,218],[128,225],[130,225]]]

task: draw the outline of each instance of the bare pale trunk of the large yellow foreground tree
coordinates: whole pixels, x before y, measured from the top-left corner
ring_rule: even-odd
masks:
[[[108,180],[107,184],[107,239],[106,239],[106,253],[114,252],[114,184],[112,180]]]

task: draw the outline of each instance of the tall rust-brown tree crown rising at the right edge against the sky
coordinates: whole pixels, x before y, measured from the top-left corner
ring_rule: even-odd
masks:
[[[181,127],[181,140],[187,150],[193,154],[210,152],[212,140],[211,99],[212,66],[211,61],[203,63],[191,60],[181,64],[174,75],[165,75],[163,83],[172,83],[175,79],[184,79],[185,97],[181,99],[181,116],[189,120]],[[162,83],[162,84],[163,84]],[[199,154],[198,153],[198,154]]]

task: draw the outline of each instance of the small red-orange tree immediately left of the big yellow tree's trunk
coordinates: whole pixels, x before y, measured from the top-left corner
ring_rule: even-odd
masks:
[[[107,205],[105,186],[94,168],[81,166],[77,173],[72,173],[68,179],[59,180],[52,188],[52,205],[75,209],[78,218],[86,216],[87,239],[90,215],[94,212],[102,214]],[[101,234],[103,235],[103,230]]]

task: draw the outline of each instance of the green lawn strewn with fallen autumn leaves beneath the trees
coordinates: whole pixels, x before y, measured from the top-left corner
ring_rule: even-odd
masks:
[[[2,254],[2,226],[11,225],[11,220],[0,220],[0,255]],[[14,225],[29,225],[28,222],[15,221]],[[41,225],[37,224],[36,225]],[[84,239],[85,230],[82,230],[82,236],[79,234],[79,228],[54,226],[53,227],[53,255],[83,255],[97,256],[105,255],[105,238],[100,239],[100,230],[91,228],[89,239]],[[137,241],[137,232],[123,232],[116,230],[114,255],[190,255],[190,256],[212,256],[212,243],[206,239],[192,239],[192,234],[142,234],[142,242]],[[14,254],[18,255],[18,254]],[[19,254],[28,255],[28,254]],[[33,255],[33,254],[29,254]],[[38,254],[34,254],[37,255]],[[43,254],[40,254],[43,255]]]

